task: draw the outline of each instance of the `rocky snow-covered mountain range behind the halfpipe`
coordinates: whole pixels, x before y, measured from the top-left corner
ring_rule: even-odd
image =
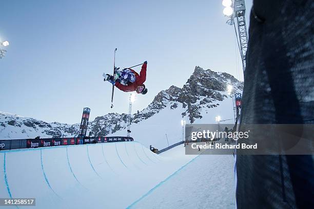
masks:
[[[147,108],[132,115],[131,136],[146,146],[152,144],[162,149],[168,142],[181,140],[181,119],[187,123],[214,123],[217,115],[222,119],[233,118],[232,100],[226,92],[228,85],[236,92],[243,89],[243,83],[230,74],[195,67],[183,88],[171,86],[159,92]],[[124,136],[126,126],[127,114],[109,113],[90,121],[87,135]],[[78,134],[78,128],[78,123],[47,123],[0,112],[0,139],[71,137]]]

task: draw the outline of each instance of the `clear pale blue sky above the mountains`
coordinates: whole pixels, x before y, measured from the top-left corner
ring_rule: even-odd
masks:
[[[112,73],[116,47],[118,67],[148,61],[148,93],[133,111],[182,87],[195,66],[243,79],[221,2],[2,1],[0,40],[10,46],[0,60],[0,111],[66,123],[80,122],[84,107],[91,119],[127,112],[129,93],[116,89],[110,109],[111,85],[102,77]]]

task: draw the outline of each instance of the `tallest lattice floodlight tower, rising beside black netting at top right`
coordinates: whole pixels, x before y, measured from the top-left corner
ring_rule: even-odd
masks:
[[[245,21],[245,2],[244,0],[223,0],[223,6],[225,7],[223,10],[224,15],[229,17],[227,24],[234,25],[234,18],[237,18],[237,25],[238,25],[238,32],[239,37],[237,34],[237,30],[235,30],[235,35],[237,35],[238,44],[240,48],[240,54],[242,59],[242,68],[243,73],[246,68],[246,51],[247,51],[247,28],[246,28],[246,21]],[[235,25],[234,25],[235,29]]]

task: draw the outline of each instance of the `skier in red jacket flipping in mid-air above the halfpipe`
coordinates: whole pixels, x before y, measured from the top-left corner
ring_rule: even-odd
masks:
[[[146,80],[147,61],[144,61],[140,74],[131,68],[115,68],[114,77],[104,73],[104,81],[108,80],[113,86],[124,92],[136,91],[138,94],[146,94],[147,88],[144,85]]]

